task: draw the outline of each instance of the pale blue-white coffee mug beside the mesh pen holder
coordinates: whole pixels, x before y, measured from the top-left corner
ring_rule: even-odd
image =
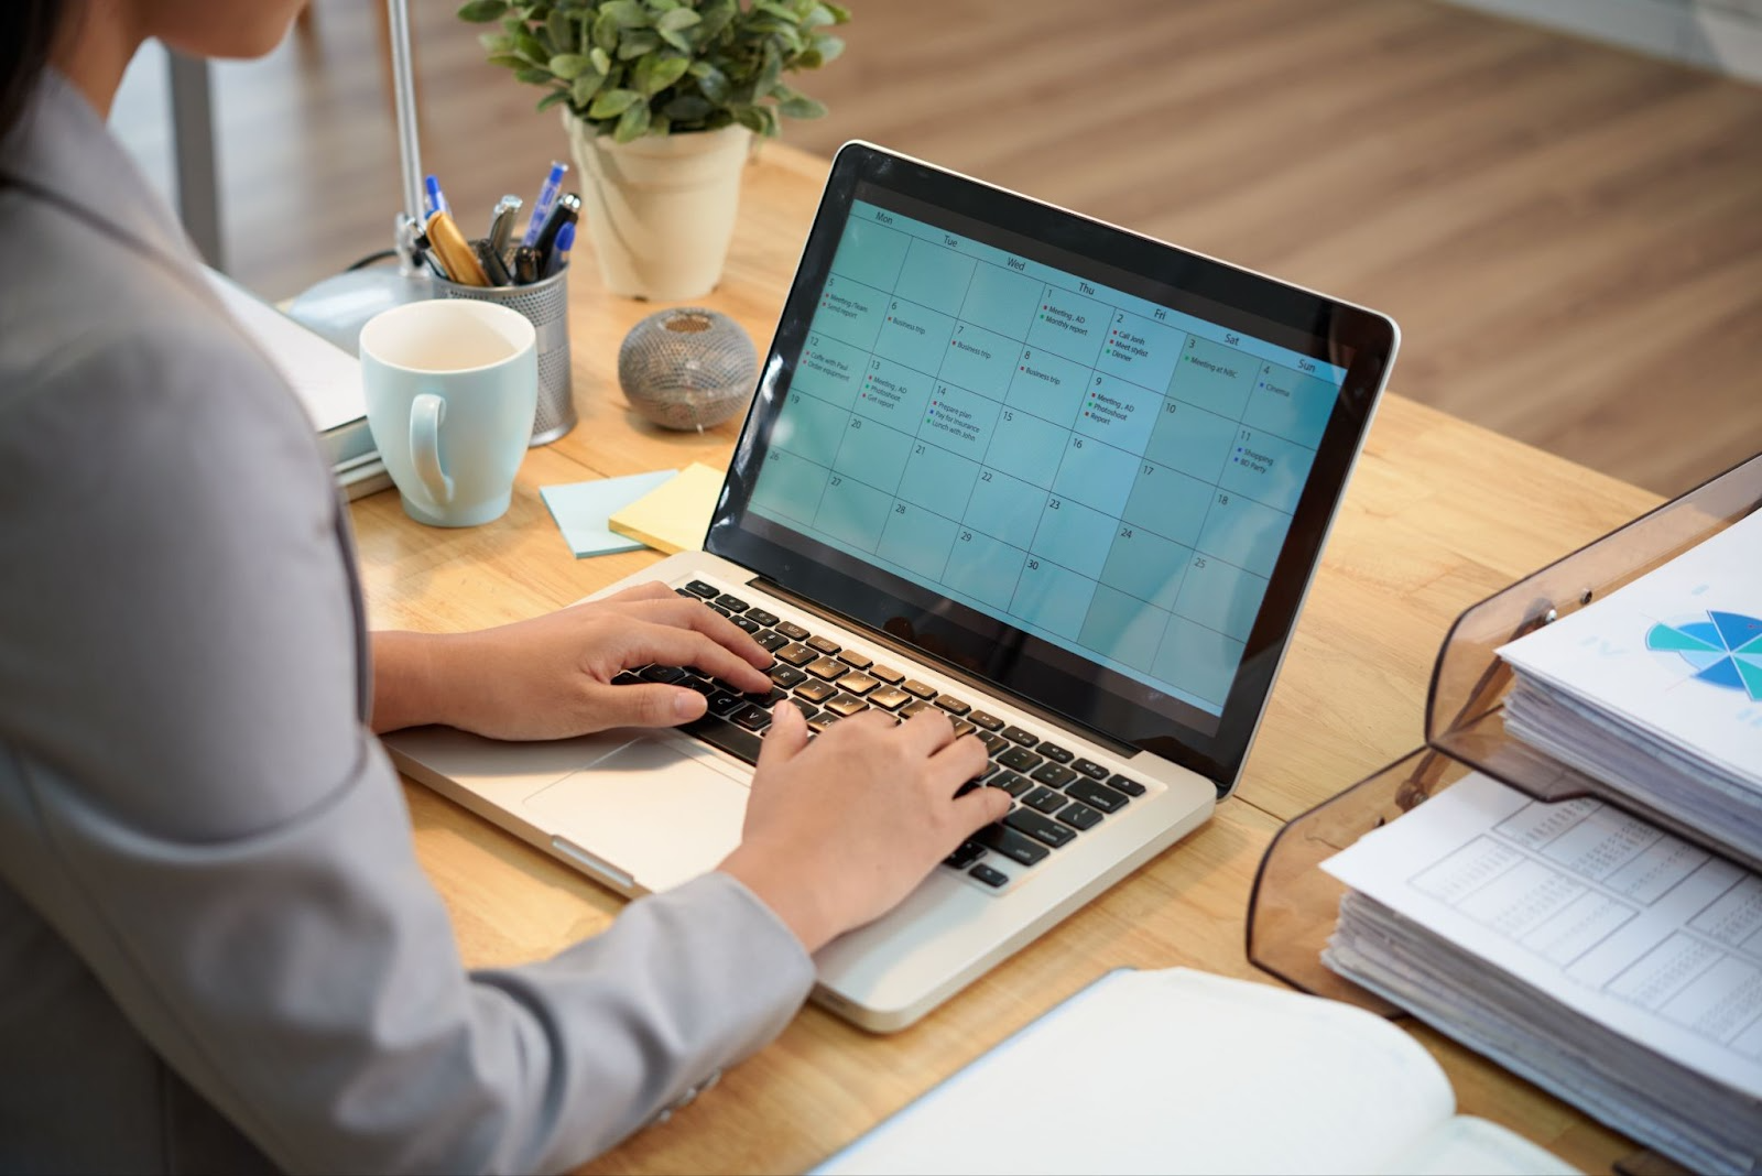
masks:
[[[523,315],[463,299],[382,310],[361,327],[361,384],[405,514],[478,526],[507,511],[539,394]]]

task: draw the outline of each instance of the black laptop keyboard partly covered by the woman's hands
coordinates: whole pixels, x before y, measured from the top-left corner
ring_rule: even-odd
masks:
[[[895,722],[941,709],[957,736],[973,734],[990,752],[985,771],[960,785],[957,796],[988,787],[1003,789],[1011,797],[1010,813],[1001,822],[985,826],[943,861],[983,887],[996,891],[1010,882],[1010,875],[994,864],[999,857],[1018,868],[1036,866],[1145,794],[1136,780],[1080,757],[1038,731],[976,709],[708,581],[692,579],[675,592],[715,609],[772,655],[766,671],[770,692],[742,694],[680,665],[645,665],[618,674],[615,683],[659,681],[705,695],[708,709],[703,718],[680,731],[749,764],[758,762],[770,708],[784,699],[802,711],[814,734],[870,709],[893,715]]]

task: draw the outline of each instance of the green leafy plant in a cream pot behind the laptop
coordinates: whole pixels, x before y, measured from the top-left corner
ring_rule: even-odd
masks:
[[[562,109],[613,294],[691,299],[722,275],[752,136],[826,107],[784,83],[844,49],[828,0],[469,0],[490,62]]]

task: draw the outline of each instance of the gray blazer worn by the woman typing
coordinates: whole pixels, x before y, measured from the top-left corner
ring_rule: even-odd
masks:
[[[467,972],[317,444],[51,76],[0,144],[0,1171],[539,1171],[770,1040],[812,963],[708,875]]]

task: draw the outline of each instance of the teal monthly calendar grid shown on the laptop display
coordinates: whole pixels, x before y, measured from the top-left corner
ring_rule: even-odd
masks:
[[[1219,711],[1337,389],[879,220],[754,505]]]

